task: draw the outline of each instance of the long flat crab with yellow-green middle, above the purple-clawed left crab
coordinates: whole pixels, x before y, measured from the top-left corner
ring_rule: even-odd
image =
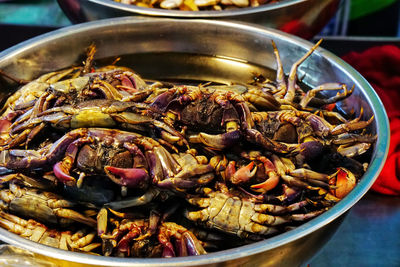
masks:
[[[54,107],[37,114],[19,125],[12,125],[13,138],[1,149],[9,149],[21,142],[27,145],[43,128],[50,124],[54,128],[68,131],[82,127],[116,127],[140,132],[160,132],[162,138],[186,144],[183,136],[162,121],[146,115],[148,107],[135,102],[95,99]]]

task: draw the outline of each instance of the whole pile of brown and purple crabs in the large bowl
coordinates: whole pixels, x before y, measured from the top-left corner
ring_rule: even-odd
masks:
[[[147,81],[95,68],[90,47],[82,66],[26,82],[0,118],[0,226],[65,250],[174,257],[325,212],[357,184],[376,136],[373,117],[335,107],[352,88],[299,85],[297,67],[318,44],[285,76],[272,43],[274,81]]]

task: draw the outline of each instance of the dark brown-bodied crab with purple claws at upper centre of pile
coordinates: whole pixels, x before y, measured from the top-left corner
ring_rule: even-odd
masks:
[[[250,107],[279,109],[279,103],[261,90],[245,86],[182,86],[152,98],[150,106],[165,114],[165,122],[187,129],[189,143],[223,150],[244,138],[278,153],[293,149],[263,136],[254,128]],[[250,102],[250,103],[249,103]]]

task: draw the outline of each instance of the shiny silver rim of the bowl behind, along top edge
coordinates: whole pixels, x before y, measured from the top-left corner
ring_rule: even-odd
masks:
[[[260,5],[258,7],[245,7],[234,10],[221,10],[221,11],[167,10],[161,8],[139,7],[135,5],[122,4],[110,0],[88,0],[88,1],[115,10],[137,13],[141,15],[160,16],[160,17],[164,16],[164,17],[175,17],[175,18],[224,18],[224,17],[249,15],[249,14],[256,14],[261,12],[282,9],[302,2],[307,2],[308,0],[286,0],[283,2]]]

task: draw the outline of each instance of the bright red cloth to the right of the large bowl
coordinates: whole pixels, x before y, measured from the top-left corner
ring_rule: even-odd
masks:
[[[372,190],[400,195],[400,48],[372,47],[342,57],[372,85],[381,98],[390,121],[389,155]]]

